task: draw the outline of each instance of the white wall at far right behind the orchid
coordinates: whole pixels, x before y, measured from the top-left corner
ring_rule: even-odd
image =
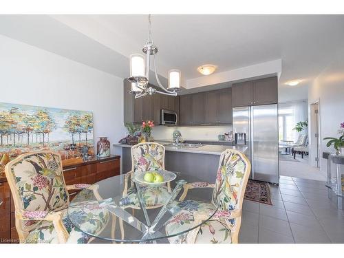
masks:
[[[339,137],[337,133],[340,123],[344,122],[344,50],[336,55],[336,58],[323,69],[323,72],[310,85],[308,91],[308,111],[310,104],[319,100],[320,107],[320,139],[321,151],[334,151],[333,147],[326,147],[325,137]],[[312,118],[312,116],[309,117]],[[310,124],[312,120],[310,120]],[[312,135],[309,129],[309,135]],[[312,138],[310,138],[311,140]],[[314,146],[310,142],[310,146]],[[314,149],[310,151],[310,160],[314,160]],[[326,161],[320,160],[321,171],[326,171]]]

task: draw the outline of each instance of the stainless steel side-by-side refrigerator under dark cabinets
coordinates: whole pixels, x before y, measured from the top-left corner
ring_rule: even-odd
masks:
[[[233,107],[234,145],[246,146],[250,178],[279,184],[277,104]]]

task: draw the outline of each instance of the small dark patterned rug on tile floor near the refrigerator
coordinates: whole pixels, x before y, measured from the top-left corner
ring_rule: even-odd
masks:
[[[272,205],[270,185],[267,182],[248,180],[244,198],[253,202]]]

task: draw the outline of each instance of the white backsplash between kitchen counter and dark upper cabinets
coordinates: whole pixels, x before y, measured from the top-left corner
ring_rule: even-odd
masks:
[[[152,136],[155,140],[172,140],[172,133],[174,130],[179,130],[182,133],[182,138],[187,140],[218,140],[219,134],[233,131],[231,125],[213,126],[213,127],[154,127]]]

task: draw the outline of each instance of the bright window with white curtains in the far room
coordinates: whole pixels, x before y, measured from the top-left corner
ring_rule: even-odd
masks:
[[[289,116],[288,119],[285,119],[286,125],[283,125],[285,128],[285,133],[287,135],[291,134],[292,140],[294,142],[299,138],[297,131],[292,130],[292,128],[297,125],[300,121],[308,120],[308,104],[306,100],[290,102],[290,103],[280,103],[279,104],[279,115]],[[301,133],[307,133],[307,129],[301,131]],[[284,136],[286,138],[286,136]]]

